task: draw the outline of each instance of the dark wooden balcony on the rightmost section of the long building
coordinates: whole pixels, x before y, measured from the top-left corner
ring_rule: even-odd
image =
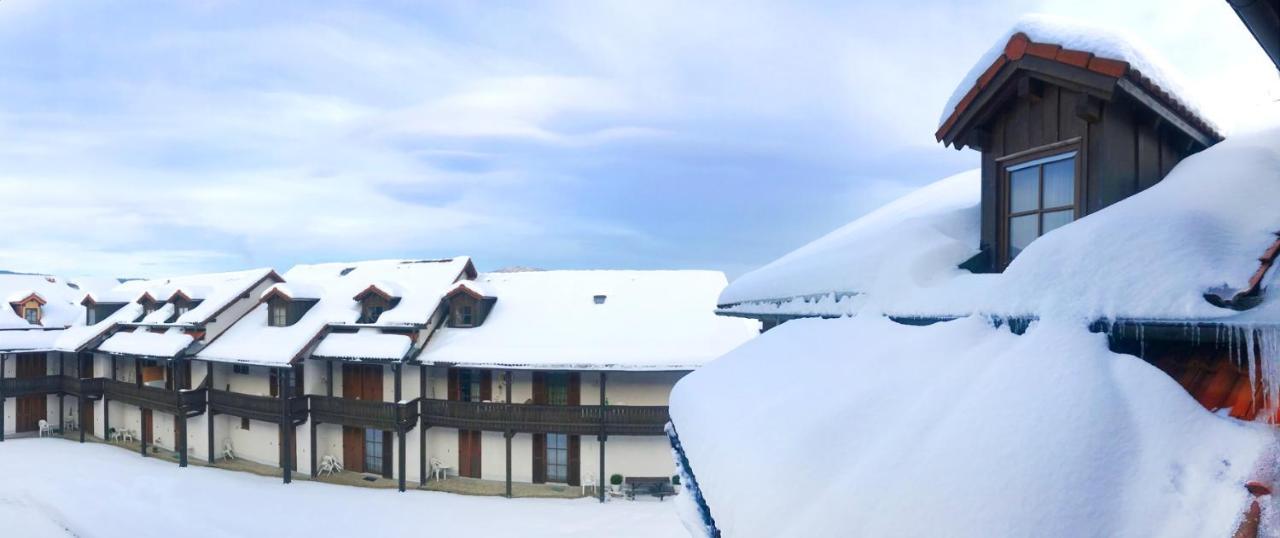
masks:
[[[577,436],[662,436],[667,406],[525,405],[422,400],[428,427]]]

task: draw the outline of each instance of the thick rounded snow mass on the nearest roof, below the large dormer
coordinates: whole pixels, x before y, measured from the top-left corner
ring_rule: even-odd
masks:
[[[1275,443],[1074,323],[790,322],[671,405],[717,528],[745,538],[1225,537]]]

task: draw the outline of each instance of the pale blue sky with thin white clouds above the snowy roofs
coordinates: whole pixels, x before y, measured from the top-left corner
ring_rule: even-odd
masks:
[[[0,1],[0,268],[732,277],[975,167],[934,124],[1030,12],[1142,37],[1228,127],[1280,99],[1225,1],[422,4]]]

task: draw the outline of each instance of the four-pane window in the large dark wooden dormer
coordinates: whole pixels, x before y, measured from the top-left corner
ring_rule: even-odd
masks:
[[[1032,241],[1075,220],[1075,151],[1051,155],[1005,169],[1005,264]]]

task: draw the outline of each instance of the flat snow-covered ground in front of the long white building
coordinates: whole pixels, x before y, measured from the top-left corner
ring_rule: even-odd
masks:
[[[105,444],[0,443],[0,535],[682,537],[673,502],[398,493],[187,468]]]

